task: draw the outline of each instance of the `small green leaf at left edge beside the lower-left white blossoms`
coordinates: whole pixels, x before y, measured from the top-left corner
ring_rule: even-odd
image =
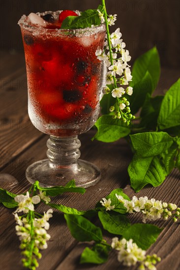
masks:
[[[16,194],[13,194],[6,189],[0,189],[0,203],[7,208],[14,208],[18,206],[18,203],[14,200]]]

